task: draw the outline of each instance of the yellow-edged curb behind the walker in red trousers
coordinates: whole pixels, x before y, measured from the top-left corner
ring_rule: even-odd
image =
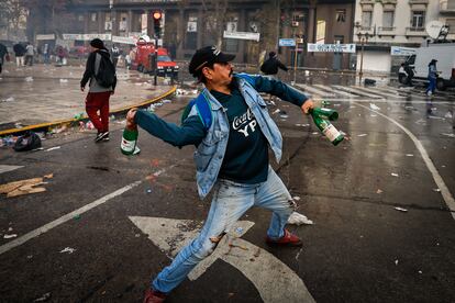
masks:
[[[159,100],[173,94],[177,89],[177,86],[174,86],[171,89],[169,89],[168,91],[166,91],[165,93],[163,93],[162,96],[155,97],[153,99],[147,99],[138,104],[134,104],[134,105],[127,105],[127,106],[123,106],[120,109],[116,109],[114,111],[110,111],[109,115],[111,114],[121,114],[121,113],[125,113],[129,110],[133,109],[133,108],[143,108],[146,105],[149,105],[152,103],[158,102]],[[88,116],[87,114],[84,114],[80,119],[65,119],[65,120],[57,120],[57,121],[53,121],[53,122],[46,122],[46,123],[41,123],[41,124],[34,124],[34,125],[29,125],[29,126],[24,126],[21,128],[10,128],[10,130],[4,130],[4,131],[0,131],[0,136],[5,136],[5,135],[19,135],[25,131],[38,131],[38,130],[48,130],[51,127],[55,127],[55,126],[59,126],[63,124],[77,124],[79,121],[88,121]]]

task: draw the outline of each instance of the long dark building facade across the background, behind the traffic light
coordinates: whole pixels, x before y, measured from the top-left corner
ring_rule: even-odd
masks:
[[[115,37],[154,37],[152,14],[163,13],[160,38],[177,59],[188,59],[204,45],[221,45],[236,55],[237,63],[257,65],[262,55],[278,50],[287,65],[318,68],[349,68],[349,54],[308,53],[307,43],[352,43],[354,0],[78,0],[53,14],[46,30],[40,24],[34,33],[101,34]],[[36,14],[36,12],[35,12]],[[31,12],[33,15],[33,12]],[[38,20],[38,18],[36,18]],[[246,33],[257,40],[224,37]],[[68,35],[66,35],[68,36]],[[90,35],[91,36],[91,35]],[[279,38],[293,38],[297,47],[278,47]],[[87,44],[79,40],[75,45]],[[297,52],[296,52],[297,50]],[[295,54],[297,53],[297,57]]]

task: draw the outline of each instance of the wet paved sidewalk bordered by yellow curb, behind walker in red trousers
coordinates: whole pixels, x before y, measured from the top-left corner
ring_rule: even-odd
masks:
[[[0,135],[67,123],[77,114],[86,114],[88,86],[86,92],[79,88],[84,70],[85,66],[38,64],[18,68],[7,64],[0,75]],[[174,91],[170,86],[154,87],[152,77],[134,70],[119,68],[118,79],[115,94],[110,99],[111,113],[153,102]]]

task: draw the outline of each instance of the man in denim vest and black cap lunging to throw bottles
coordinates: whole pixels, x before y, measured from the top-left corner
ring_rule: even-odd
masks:
[[[127,128],[138,125],[174,146],[196,145],[199,195],[204,198],[213,190],[209,215],[199,236],[152,281],[145,303],[163,302],[252,206],[273,212],[266,237],[268,245],[302,245],[298,236],[285,228],[295,202],[268,161],[268,147],[276,160],[280,160],[282,138],[259,92],[289,101],[303,113],[314,108],[314,103],[278,80],[234,74],[230,63],[234,57],[214,46],[196,52],[189,71],[206,88],[198,101],[188,105],[181,126],[143,110],[133,109],[127,113]]]

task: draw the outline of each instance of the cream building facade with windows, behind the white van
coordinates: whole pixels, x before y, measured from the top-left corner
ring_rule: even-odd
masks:
[[[429,43],[425,25],[435,20],[450,25],[447,40],[455,38],[455,0],[357,0],[353,41],[364,44],[364,69],[396,71],[404,58],[391,56],[390,48]]]

